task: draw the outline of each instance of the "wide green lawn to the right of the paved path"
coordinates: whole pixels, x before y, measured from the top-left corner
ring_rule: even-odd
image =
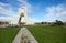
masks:
[[[66,43],[65,26],[28,26],[38,43]]]

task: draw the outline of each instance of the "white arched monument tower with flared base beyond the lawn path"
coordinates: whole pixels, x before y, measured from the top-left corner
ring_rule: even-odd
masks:
[[[24,18],[24,23],[26,25],[31,25],[34,24],[33,21],[30,20],[30,18],[28,17],[28,9],[26,8],[19,8],[19,14],[12,20],[10,21],[10,24],[20,24],[21,23],[21,19]]]

